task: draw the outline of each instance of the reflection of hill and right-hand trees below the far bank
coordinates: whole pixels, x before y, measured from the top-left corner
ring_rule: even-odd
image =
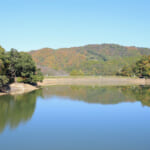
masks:
[[[141,101],[143,105],[150,106],[150,87],[142,86],[51,86],[43,89],[43,95],[46,97],[64,96],[72,100],[100,104]]]

